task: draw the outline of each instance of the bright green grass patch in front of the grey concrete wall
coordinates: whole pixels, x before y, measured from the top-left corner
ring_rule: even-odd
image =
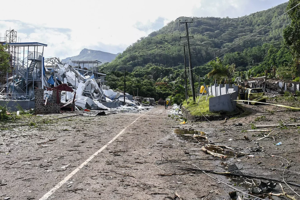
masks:
[[[202,116],[203,115],[220,115],[220,112],[211,112],[209,111],[209,99],[213,96],[207,97],[202,96],[199,100],[199,97],[196,98],[196,103],[193,102],[193,98],[188,99],[187,101],[184,101],[182,103],[182,106],[184,106],[185,109],[190,111],[190,114],[193,116]],[[199,100],[199,104],[197,104]],[[202,113],[202,114],[201,114]]]

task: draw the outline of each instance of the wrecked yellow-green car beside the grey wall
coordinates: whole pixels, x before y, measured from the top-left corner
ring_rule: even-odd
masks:
[[[256,102],[266,102],[268,96],[265,95],[262,88],[252,88],[252,89],[245,89],[244,93],[239,94],[240,100],[249,100],[249,101],[256,101]],[[248,104],[256,104],[254,102],[248,102]]]

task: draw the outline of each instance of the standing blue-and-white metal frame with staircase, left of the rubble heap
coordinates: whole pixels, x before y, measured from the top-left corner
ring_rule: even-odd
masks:
[[[8,45],[10,73],[0,73],[1,99],[31,100],[34,88],[43,87],[43,54],[46,44],[38,42],[17,42],[17,32],[6,31],[0,42]]]

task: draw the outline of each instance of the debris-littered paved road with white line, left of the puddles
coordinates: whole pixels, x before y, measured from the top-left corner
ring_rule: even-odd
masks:
[[[182,152],[172,129],[179,122],[166,116],[162,106],[141,113],[53,121],[47,121],[52,118],[48,115],[37,118],[35,121],[40,123],[36,127],[6,131],[1,151],[9,154],[1,153],[0,180],[7,185],[1,186],[0,195],[6,194],[11,199],[43,199],[125,127],[118,138],[49,199],[164,199],[174,196],[175,190],[187,190],[189,186],[177,183],[184,181],[180,178],[158,176],[165,171],[155,161],[162,154],[170,157],[178,154],[177,150]],[[14,137],[17,135],[23,136]]]

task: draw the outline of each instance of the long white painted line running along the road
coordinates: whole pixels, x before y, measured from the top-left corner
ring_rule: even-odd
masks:
[[[144,113],[143,115],[145,115],[146,113]],[[53,193],[55,193],[56,190],[58,190],[58,188],[60,188],[64,183],[66,183],[73,175],[75,175],[83,166],[85,166],[89,161],[91,161],[95,156],[97,156],[101,151],[103,151],[105,148],[107,148],[107,146],[112,143],[113,141],[115,141],[122,133],[124,133],[124,131],[132,124],[134,124],[134,122],[136,122],[138,119],[140,119],[143,115],[141,115],[140,117],[138,117],[136,120],[134,120],[131,124],[129,124],[127,127],[125,127],[118,135],[116,135],[111,141],[109,141],[106,145],[104,145],[101,149],[99,149],[98,151],[96,151],[95,154],[93,154],[91,157],[89,157],[87,160],[85,160],[81,165],[79,165],[76,169],[74,169],[73,172],[71,172],[69,175],[66,176],[66,178],[64,178],[62,181],[60,181],[55,187],[53,187],[49,192],[47,192],[41,199],[39,200],[46,200],[48,199]]]

